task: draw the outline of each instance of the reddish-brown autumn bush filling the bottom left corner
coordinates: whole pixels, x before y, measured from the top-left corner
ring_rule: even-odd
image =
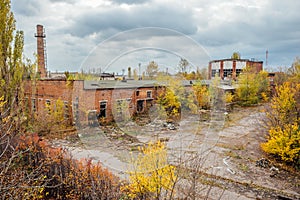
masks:
[[[17,140],[16,140],[17,141]],[[120,182],[100,163],[76,161],[37,134],[18,138],[1,160],[2,199],[120,199]]]

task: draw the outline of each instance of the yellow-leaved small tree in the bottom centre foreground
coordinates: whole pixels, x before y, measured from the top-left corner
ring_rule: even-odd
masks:
[[[131,160],[130,184],[123,189],[132,199],[171,199],[177,181],[176,168],[168,163],[165,144],[157,141],[139,149]]]

